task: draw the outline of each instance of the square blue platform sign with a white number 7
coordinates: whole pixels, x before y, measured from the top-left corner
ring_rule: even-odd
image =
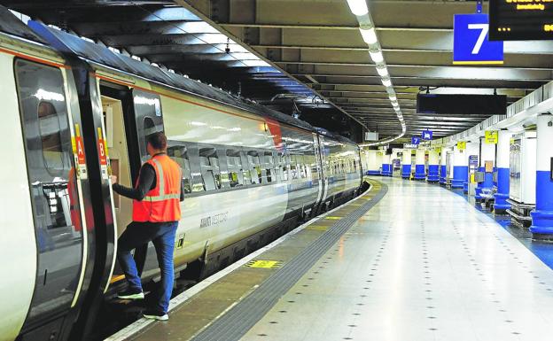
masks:
[[[503,42],[489,41],[487,14],[456,14],[454,16],[453,64],[503,64]]]

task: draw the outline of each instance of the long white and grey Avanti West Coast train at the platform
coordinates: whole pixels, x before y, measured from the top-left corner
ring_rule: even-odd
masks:
[[[124,285],[130,186],[165,131],[183,169],[175,275],[201,279],[354,198],[347,138],[0,8],[0,341],[87,339]],[[134,257],[159,275],[152,244]]]

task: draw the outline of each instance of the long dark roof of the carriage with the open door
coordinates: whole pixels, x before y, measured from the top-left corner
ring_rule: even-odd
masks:
[[[39,35],[53,36],[57,42],[51,42],[52,46],[58,47],[57,45],[61,44],[60,49],[70,50],[75,55],[99,65],[109,66],[128,74],[134,74],[136,76],[143,77],[146,80],[155,81],[162,85],[180,89],[195,96],[206,97],[226,105],[232,105],[247,112],[252,112],[260,116],[278,120],[297,128],[303,128],[312,132],[316,131],[313,126],[308,124],[308,122],[295,119],[282,112],[277,112],[253,101],[246,100],[243,97],[230,94],[222,89],[214,88],[208,84],[202,83],[201,81],[194,81],[180,74],[174,74],[163,70],[160,67],[146,64],[120,53],[115,53],[105,46],[88,42],[76,35],[71,35],[69,33],[47,27],[42,23],[32,20],[29,21],[29,27],[33,28]]]

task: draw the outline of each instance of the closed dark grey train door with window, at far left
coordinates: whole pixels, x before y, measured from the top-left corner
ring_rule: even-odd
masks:
[[[27,317],[35,322],[68,308],[74,298],[82,261],[81,208],[61,71],[22,59],[14,69],[38,249]],[[55,255],[63,255],[63,264]]]

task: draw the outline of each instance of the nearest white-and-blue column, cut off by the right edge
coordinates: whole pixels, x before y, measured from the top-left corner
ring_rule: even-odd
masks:
[[[551,158],[553,158],[553,116],[541,114],[537,118],[536,148],[536,208],[531,213],[534,238],[553,238],[553,181],[551,181]]]

